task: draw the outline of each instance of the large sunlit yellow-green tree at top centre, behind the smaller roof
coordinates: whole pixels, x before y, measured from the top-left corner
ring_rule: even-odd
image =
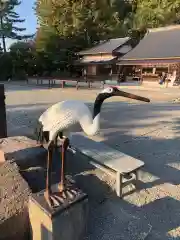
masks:
[[[84,45],[123,35],[121,26],[130,4],[123,0],[38,0],[41,34],[81,40]],[[45,40],[46,41],[46,40]]]

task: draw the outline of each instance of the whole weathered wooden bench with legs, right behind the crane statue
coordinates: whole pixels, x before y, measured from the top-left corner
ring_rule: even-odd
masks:
[[[116,193],[121,198],[125,186],[138,182],[138,170],[144,166],[144,162],[115,150],[102,142],[89,139],[84,134],[73,133],[71,146],[75,151],[89,157],[90,163],[116,177]]]

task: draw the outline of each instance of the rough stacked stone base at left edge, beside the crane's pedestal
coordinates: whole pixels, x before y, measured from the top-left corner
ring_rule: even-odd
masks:
[[[29,195],[43,189],[45,170],[42,176],[38,166],[46,165],[46,154],[27,137],[0,139],[0,240],[28,239]]]

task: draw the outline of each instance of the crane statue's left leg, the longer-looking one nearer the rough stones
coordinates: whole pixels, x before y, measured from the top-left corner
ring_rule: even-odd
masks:
[[[47,176],[46,176],[46,190],[45,190],[45,198],[50,206],[52,206],[51,200],[51,172],[52,172],[52,158],[53,158],[53,150],[54,150],[54,141],[50,142],[48,146],[48,158],[47,158]]]

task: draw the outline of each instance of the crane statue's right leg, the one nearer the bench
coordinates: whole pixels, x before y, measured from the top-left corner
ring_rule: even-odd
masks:
[[[66,153],[67,153],[67,149],[69,147],[69,139],[68,138],[64,138],[62,140],[62,159],[61,159],[61,181],[59,184],[59,190],[60,192],[62,192],[64,190],[64,182],[65,182],[65,167],[66,167]]]

